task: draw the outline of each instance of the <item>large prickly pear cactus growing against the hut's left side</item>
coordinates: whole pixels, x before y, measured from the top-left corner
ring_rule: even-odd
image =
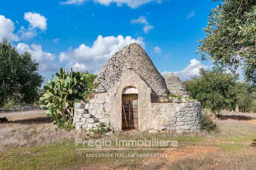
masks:
[[[45,82],[44,105],[40,107],[46,110],[46,115],[52,117],[53,124],[61,124],[67,120],[73,119],[74,100],[78,97],[82,98],[83,89],[85,87],[85,79],[88,73],[73,72],[66,73],[64,68],[53,76],[52,80]]]

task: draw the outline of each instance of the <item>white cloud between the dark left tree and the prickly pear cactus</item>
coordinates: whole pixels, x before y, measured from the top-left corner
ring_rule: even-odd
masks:
[[[20,54],[24,54],[25,51],[31,53],[31,58],[39,62],[39,72],[58,71],[59,65],[54,61],[55,55],[47,53],[42,50],[41,45],[19,43],[16,49]]]

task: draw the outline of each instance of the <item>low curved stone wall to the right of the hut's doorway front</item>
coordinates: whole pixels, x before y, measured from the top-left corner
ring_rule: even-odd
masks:
[[[152,103],[155,129],[175,132],[199,131],[202,115],[200,102],[192,103]]]

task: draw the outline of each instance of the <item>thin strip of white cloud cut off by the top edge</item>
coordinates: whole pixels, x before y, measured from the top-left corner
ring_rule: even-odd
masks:
[[[83,5],[85,1],[89,0],[67,0],[65,2],[61,2],[60,4]],[[117,6],[122,6],[123,4],[125,4],[131,8],[138,8],[139,6],[147,4],[149,2],[157,2],[159,4],[162,3],[161,0],[93,0],[93,2],[106,6],[110,5],[111,3],[116,3]]]

